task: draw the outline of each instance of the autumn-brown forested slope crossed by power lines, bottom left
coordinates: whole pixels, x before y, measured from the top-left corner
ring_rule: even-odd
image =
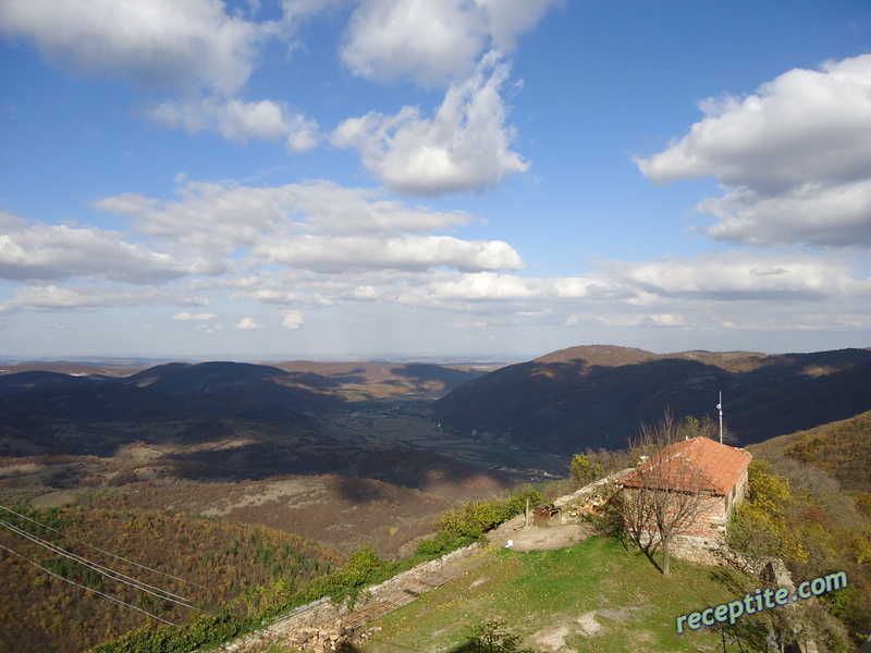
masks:
[[[181,624],[199,612],[244,615],[270,600],[259,586],[290,590],[342,563],[287,532],[173,512],[21,508],[0,509],[0,520],[3,653],[78,652],[151,621],[96,592]]]

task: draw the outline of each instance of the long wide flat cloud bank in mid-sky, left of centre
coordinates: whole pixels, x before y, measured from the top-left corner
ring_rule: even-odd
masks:
[[[500,241],[421,235],[462,225],[465,212],[433,211],[389,199],[383,192],[330,182],[253,188],[188,182],[181,199],[125,194],[96,207],[131,218],[137,231],[172,239],[216,261],[244,252],[248,264],[317,272],[357,269],[516,270],[520,256]]]

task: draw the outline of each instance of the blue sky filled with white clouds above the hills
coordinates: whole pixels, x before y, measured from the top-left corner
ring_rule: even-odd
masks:
[[[0,0],[0,356],[871,346],[864,0]]]

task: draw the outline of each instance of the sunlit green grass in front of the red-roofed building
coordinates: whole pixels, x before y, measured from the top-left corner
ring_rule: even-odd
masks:
[[[494,616],[525,638],[562,628],[562,653],[722,651],[717,633],[678,634],[675,619],[743,596],[746,583],[722,569],[674,559],[666,579],[643,554],[603,537],[557,551],[500,550],[476,570],[380,619],[378,641],[360,651],[455,651],[474,626]],[[578,619],[593,611],[600,629],[585,634]],[[526,645],[544,650],[529,639]]]

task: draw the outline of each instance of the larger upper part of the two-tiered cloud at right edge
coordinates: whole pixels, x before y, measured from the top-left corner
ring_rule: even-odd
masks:
[[[655,183],[715,175],[728,186],[780,189],[871,176],[871,54],[795,69],[745,99],[710,99],[667,150],[638,161]]]

